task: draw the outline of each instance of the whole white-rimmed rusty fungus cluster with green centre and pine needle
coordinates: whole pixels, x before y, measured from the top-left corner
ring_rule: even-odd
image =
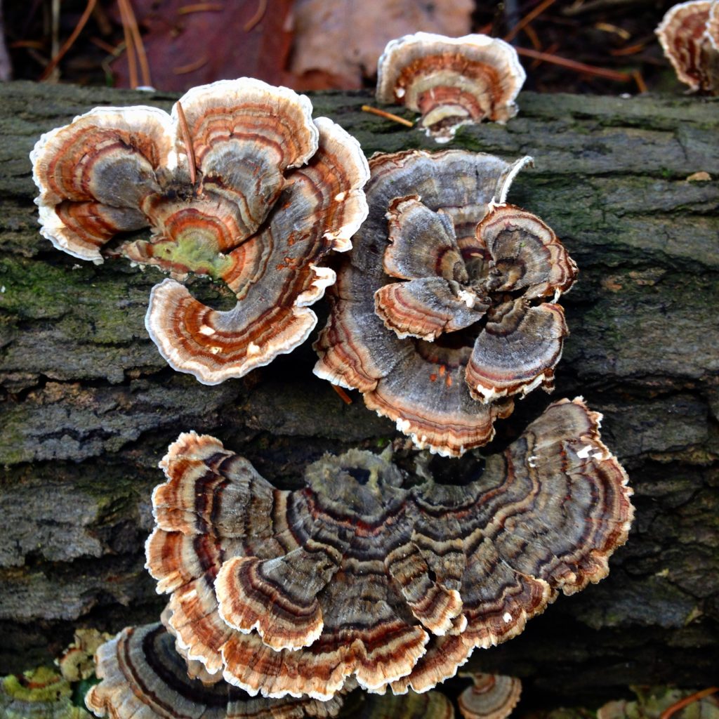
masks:
[[[97,108],[42,136],[30,155],[42,234],[103,261],[116,234],[133,262],[173,275],[155,286],[145,324],[176,370],[214,385],[267,365],[303,342],[334,272],[322,262],[367,213],[359,143],[310,101],[251,78],[193,88],[168,115]],[[177,280],[222,280],[230,311]]]

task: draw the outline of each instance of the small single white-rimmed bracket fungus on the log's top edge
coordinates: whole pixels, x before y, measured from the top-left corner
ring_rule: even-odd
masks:
[[[377,65],[377,101],[420,112],[426,134],[448,142],[463,124],[515,116],[525,79],[517,51],[503,40],[418,32],[385,47]]]

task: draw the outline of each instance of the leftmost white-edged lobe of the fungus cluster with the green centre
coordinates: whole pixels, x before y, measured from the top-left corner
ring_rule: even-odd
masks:
[[[118,232],[149,224],[142,213],[178,157],[170,117],[154,107],[96,107],[40,137],[30,153],[40,234],[81,260],[102,262]]]

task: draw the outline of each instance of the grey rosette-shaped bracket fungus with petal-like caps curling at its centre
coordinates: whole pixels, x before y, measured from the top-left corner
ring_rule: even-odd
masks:
[[[314,372],[360,390],[431,452],[486,444],[512,395],[551,389],[567,335],[556,300],[577,267],[544,222],[504,204],[530,159],[413,150],[370,162],[370,216],[329,293]]]

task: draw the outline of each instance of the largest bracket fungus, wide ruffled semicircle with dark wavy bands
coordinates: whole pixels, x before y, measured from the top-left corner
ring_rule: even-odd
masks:
[[[599,416],[562,400],[462,487],[350,450],[278,490],[209,436],[161,462],[147,568],[181,651],[268,697],[426,691],[608,572],[631,522]]]

